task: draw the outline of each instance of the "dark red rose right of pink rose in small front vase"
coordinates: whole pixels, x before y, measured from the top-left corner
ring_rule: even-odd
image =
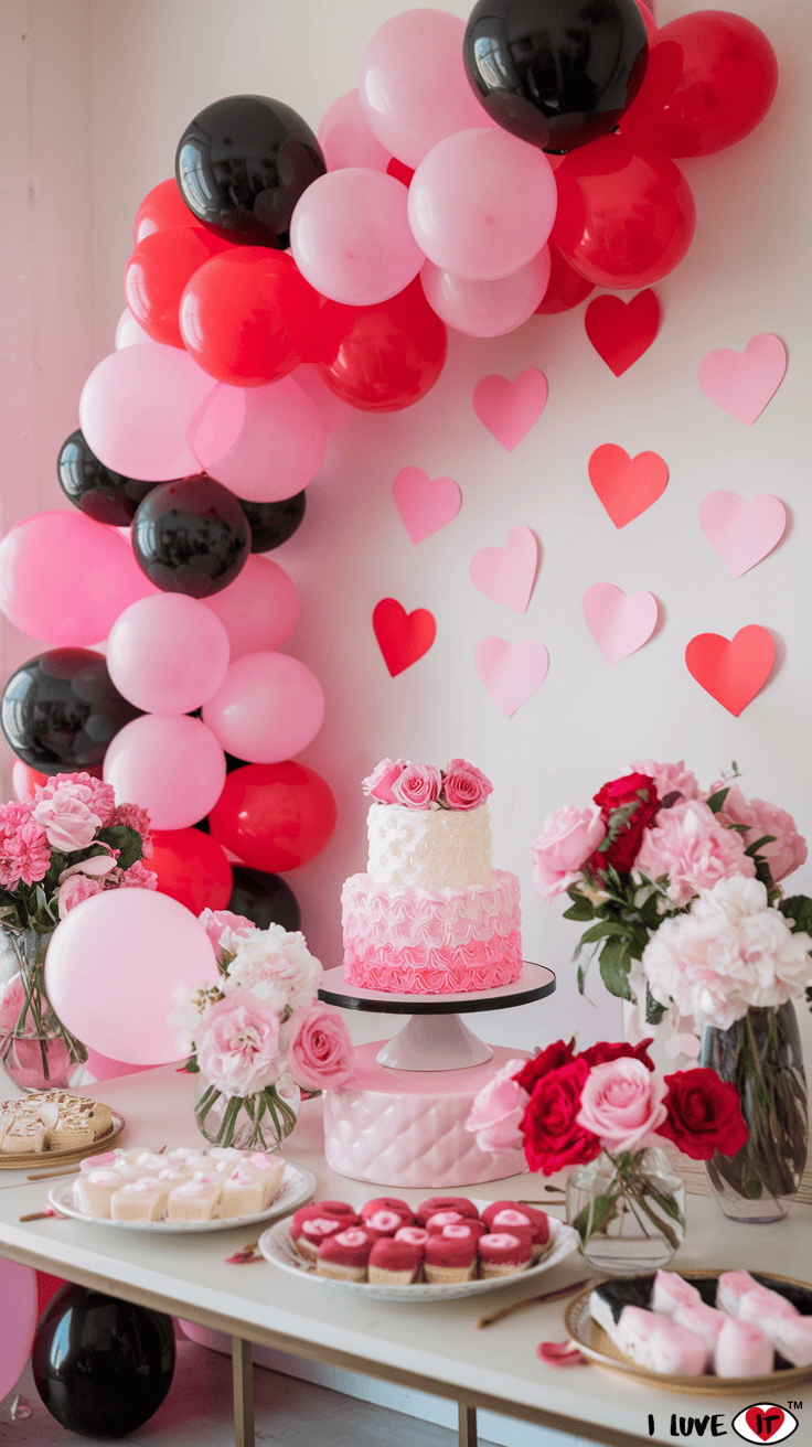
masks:
[[[664,1079],[669,1114],[657,1134],[673,1140],[692,1160],[711,1160],[716,1150],[721,1156],[735,1156],[748,1134],[735,1085],[706,1066],[677,1071]]]

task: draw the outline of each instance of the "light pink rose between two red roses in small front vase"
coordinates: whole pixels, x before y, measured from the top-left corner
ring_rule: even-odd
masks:
[[[667,1116],[669,1088],[643,1061],[621,1056],[593,1065],[583,1082],[576,1121],[601,1137],[605,1150],[641,1150]]]

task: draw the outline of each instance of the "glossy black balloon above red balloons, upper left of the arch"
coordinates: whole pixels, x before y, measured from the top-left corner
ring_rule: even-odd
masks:
[[[204,226],[279,250],[300,195],[326,171],[310,126],[266,96],[216,100],[187,126],[175,156],[181,195]]]

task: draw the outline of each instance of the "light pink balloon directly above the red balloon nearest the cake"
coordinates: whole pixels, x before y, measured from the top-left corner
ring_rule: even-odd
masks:
[[[203,709],[204,724],[223,748],[249,764],[281,764],[300,754],[323,719],[318,679],[287,653],[246,653],[237,658]]]

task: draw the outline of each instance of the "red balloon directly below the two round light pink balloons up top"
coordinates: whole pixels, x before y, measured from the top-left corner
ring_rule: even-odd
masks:
[[[447,350],[446,327],[415,276],[378,307],[321,308],[318,370],[327,386],[365,412],[399,412],[434,386]]]

